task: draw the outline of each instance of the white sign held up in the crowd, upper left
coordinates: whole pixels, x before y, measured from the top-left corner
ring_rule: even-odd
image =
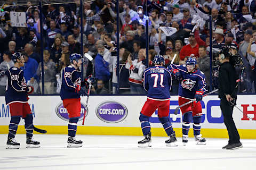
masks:
[[[11,11],[10,16],[12,27],[27,27],[26,12]]]

